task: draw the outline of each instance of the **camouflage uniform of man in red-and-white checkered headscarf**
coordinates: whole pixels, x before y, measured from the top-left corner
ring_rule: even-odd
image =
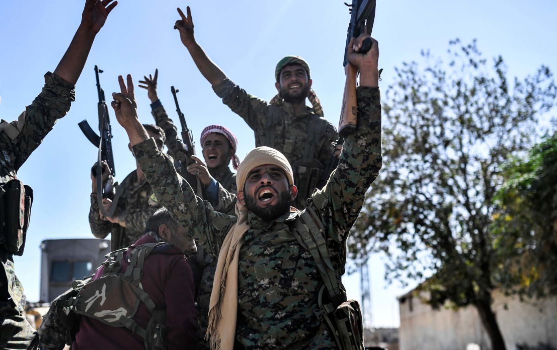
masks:
[[[160,100],[151,104],[151,113],[155,118],[157,126],[163,128],[166,135],[165,146],[168,148],[168,154],[175,160],[185,162],[185,153],[180,151],[179,144],[182,140],[178,138],[177,128],[168,117],[167,112],[164,110]],[[228,214],[234,214],[234,204],[236,204],[236,174],[230,171],[228,165],[219,169],[209,169],[211,176],[218,182],[218,203],[211,203],[216,207],[217,211],[222,211]],[[203,193],[204,194],[204,193]],[[203,196],[206,197],[206,196]],[[229,203],[228,205],[225,205]],[[194,270],[194,278],[196,279],[197,287],[197,313],[199,315],[199,331],[198,339],[202,341],[207,332],[207,314],[209,313],[209,299],[211,299],[211,291],[213,288],[214,271],[217,267],[217,260],[203,249],[203,246],[198,246],[196,263],[190,263]],[[192,259],[189,260],[192,262]],[[208,347],[207,342],[201,342]]]

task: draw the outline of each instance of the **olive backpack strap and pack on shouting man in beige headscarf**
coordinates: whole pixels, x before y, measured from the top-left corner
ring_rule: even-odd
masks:
[[[292,231],[301,246],[311,253],[323,278],[324,284],[317,297],[317,318],[327,323],[340,350],[364,350],[360,304],[353,299],[346,300],[341,272],[336,271],[329,257],[325,228],[311,206],[302,211],[300,219],[294,222]],[[346,260],[345,254],[342,259]]]

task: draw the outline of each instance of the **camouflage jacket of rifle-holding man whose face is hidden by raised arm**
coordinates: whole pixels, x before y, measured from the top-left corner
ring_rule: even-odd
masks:
[[[91,208],[89,209],[89,226],[96,238],[105,238],[111,233],[111,250],[128,247],[143,236],[145,223],[161,206],[153,194],[153,190],[146,180],[137,182],[137,172],[131,172],[121,184],[116,184],[116,191],[122,194],[118,201],[114,216],[125,221],[126,227],[110,221],[102,220],[99,216],[97,194],[91,193]]]

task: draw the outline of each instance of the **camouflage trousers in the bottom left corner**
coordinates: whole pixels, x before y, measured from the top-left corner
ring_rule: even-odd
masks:
[[[0,348],[37,349],[37,332],[11,303],[0,302]]]

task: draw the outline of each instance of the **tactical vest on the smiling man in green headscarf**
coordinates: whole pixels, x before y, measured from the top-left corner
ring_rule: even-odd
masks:
[[[266,123],[265,143],[262,146],[271,148],[275,147],[275,127],[282,123],[283,111],[281,106],[270,105],[267,107],[270,116]],[[324,178],[328,178],[330,174],[325,174],[325,164],[321,163],[316,154],[319,139],[327,129],[328,123],[324,118],[316,114],[310,114],[309,123],[307,123],[307,138],[304,145],[302,158],[296,162],[291,162],[292,172],[294,172],[294,184],[298,188],[300,194],[300,204],[304,204],[306,198],[311,196],[315,188],[324,182]],[[284,149],[278,149],[282,153],[288,153]],[[305,206],[304,206],[305,207]],[[303,208],[300,208],[303,209]]]

